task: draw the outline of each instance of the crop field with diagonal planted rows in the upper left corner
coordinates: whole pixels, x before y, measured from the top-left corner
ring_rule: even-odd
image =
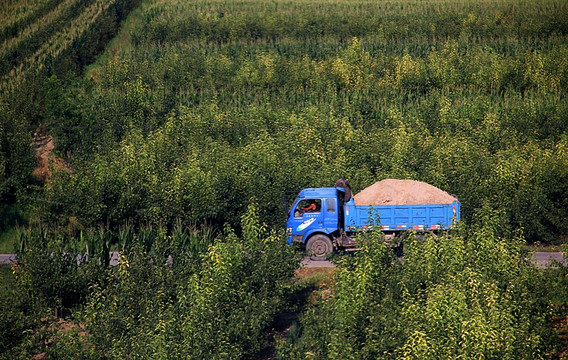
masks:
[[[16,91],[26,77],[48,68],[64,72],[92,61],[97,42],[110,35],[118,12],[135,1],[64,0],[6,2],[0,19],[0,79],[3,91]],[[62,60],[64,58],[72,58]]]

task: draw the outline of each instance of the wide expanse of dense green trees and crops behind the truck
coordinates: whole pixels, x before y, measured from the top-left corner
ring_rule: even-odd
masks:
[[[28,145],[42,125],[54,174],[31,194],[62,223],[238,226],[254,196],[280,226],[284,191],[395,177],[456,194],[466,221],[490,206],[505,230],[561,242],[567,10],[555,0],[144,3],[120,34],[128,45],[84,78],[51,72],[33,101],[4,98],[2,191],[32,191]]]

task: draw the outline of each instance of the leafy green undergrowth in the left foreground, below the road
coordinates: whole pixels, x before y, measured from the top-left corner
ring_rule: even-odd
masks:
[[[199,253],[173,233],[156,231],[150,243],[137,235],[111,267],[94,255],[77,265],[72,247],[39,233],[46,241],[35,236],[17,266],[15,296],[24,300],[9,312],[35,325],[2,344],[0,357],[250,357],[286,303],[299,258],[258,222],[253,206],[242,221],[242,238],[226,228]],[[25,328],[3,325],[6,335]]]

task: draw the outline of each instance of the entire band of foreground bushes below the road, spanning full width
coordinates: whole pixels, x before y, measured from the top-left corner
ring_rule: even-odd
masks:
[[[299,253],[256,211],[242,237],[122,227],[111,267],[107,229],[26,230],[13,290],[0,291],[0,359],[263,358],[275,318],[310,287],[293,279]],[[561,359],[568,268],[536,268],[522,238],[499,236],[499,214],[479,217],[409,234],[404,259],[361,234],[331,287],[276,337],[275,357]]]

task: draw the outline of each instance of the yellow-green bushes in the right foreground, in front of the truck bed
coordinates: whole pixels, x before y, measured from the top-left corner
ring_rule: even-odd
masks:
[[[547,277],[488,224],[411,237],[403,259],[380,235],[361,243],[280,358],[539,359],[556,346]]]

